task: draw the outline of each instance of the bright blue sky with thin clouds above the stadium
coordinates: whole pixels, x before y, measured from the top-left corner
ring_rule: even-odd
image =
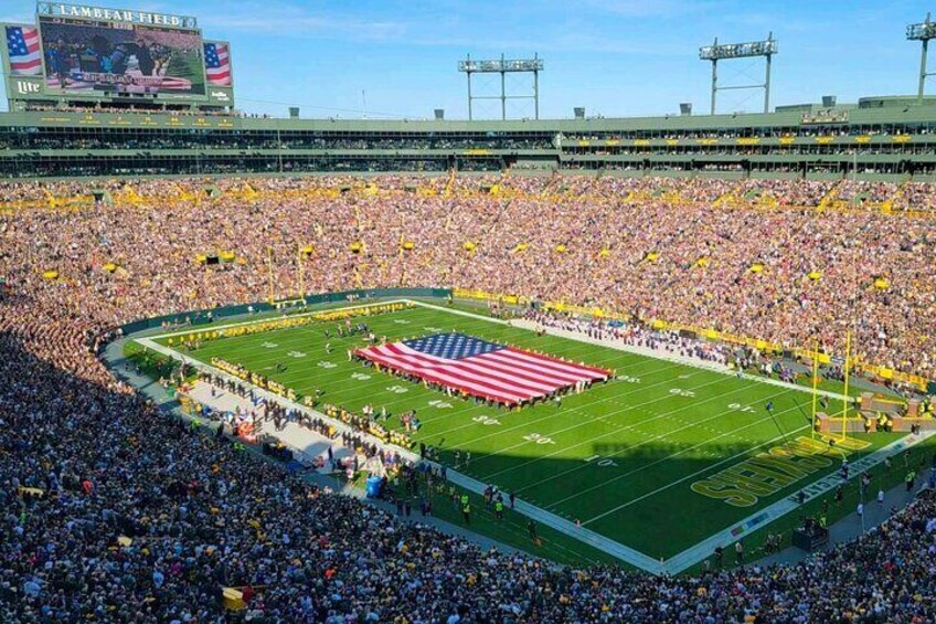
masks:
[[[78,2],[73,2],[78,3]],[[304,117],[467,117],[459,59],[539,53],[541,117],[662,115],[691,102],[708,112],[710,66],[700,45],[779,40],[773,104],[839,102],[916,92],[919,45],[905,25],[936,2],[918,0],[289,0],[88,1],[199,18],[206,39],[232,42],[238,108]],[[34,21],[34,2],[0,0],[0,20]],[[936,49],[936,45],[934,45]],[[932,54],[936,71],[936,50]],[[723,64],[722,84],[761,82],[763,62]],[[478,76],[476,93],[499,78]],[[529,83],[509,78],[522,92]],[[936,93],[936,85],[929,89]],[[362,93],[363,92],[363,93]],[[758,92],[720,94],[720,112],[757,110]],[[366,106],[365,106],[366,103]],[[499,116],[499,103],[477,117]],[[532,106],[508,105],[512,117]]]

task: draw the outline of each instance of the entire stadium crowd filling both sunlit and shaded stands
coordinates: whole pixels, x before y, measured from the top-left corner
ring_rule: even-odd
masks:
[[[3,213],[0,621],[223,622],[223,586],[249,588],[264,622],[933,621],[932,501],[796,565],[672,579],[555,569],[320,490],[158,413],[96,357],[123,322],[260,298],[272,247],[284,295],[306,262],[308,292],[458,285],[819,337],[834,352],[854,319],[862,357],[933,373],[927,222],[712,208],[731,191],[716,183],[694,182],[692,200],[646,179],[252,179],[209,199],[204,181],[152,181],[136,194],[110,183],[116,205]],[[312,253],[298,261],[302,245]],[[196,258],[221,251],[238,260]],[[43,495],[21,501],[21,487]]]

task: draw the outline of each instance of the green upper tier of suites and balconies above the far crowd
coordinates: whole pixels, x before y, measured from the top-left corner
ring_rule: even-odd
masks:
[[[276,119],[199,112],[0,115],[4,177],[600,171],[623,176],[936,176],[936,101],[769,114],[554,120]]]

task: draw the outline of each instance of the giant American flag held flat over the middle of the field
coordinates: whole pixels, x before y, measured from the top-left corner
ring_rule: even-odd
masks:
[[[515,405],[610,372],[464,334],[436,334],[359,349],[372,362],[470,394]]]

